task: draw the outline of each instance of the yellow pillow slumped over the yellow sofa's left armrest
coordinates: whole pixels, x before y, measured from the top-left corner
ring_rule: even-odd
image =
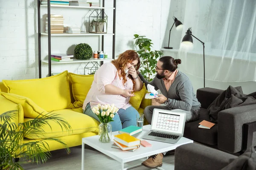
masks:
[[[21,104],[24,111],[24,116],[27,118],[36,118],[41,117],[41,115],[46,115],[48,112],[44,109],[40,108],[38,105],[35,104],[31,99],[20,96],[17,94],[11,94],[11,93],[4,93],[0,92],[1,96],[4,96],[6,99],[16,103]]]

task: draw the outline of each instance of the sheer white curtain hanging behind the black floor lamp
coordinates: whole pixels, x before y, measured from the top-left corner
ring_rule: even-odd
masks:
[[[186,0],[182,38],[188,28],[205,42],[205,77],[221,82],[256,81],[256,0]],[[182,40],[181,38],[181,40]],[[180,68],[203,77],[203,45],[180,45]]]

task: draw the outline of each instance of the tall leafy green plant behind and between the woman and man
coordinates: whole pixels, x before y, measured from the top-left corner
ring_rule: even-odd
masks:
[[[157,66],[157,58],[163,55],[161,51],[151,51],[152,40],[145,38],[145,36],[139,36],[134,34],[135,46],[139,48],[137,53],[140,56],[140,73],[148,81],[152,81],[152,74],[155,74],[155,68]]]

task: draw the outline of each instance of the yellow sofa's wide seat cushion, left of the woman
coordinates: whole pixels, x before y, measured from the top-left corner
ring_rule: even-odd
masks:
[[[49,137],[63,137],[86,132],[98,132],[99,122],[91,118],[90,116],[87,116],[86,114],[78,113],[70,109],[52,111],[52,113],[58,114],[60,117],[65,119],[70,124],[72,129],[66,130],[64,127],[62,129],[61,126],[58,125],[56,122],[49,121],[50,127],[47,125],[43,127],[44,133],[42,133],[41,135],[38,136],[31,134],[30,136],[24,137],[28,139],[42,139]],[[27,122],[29,120],[33,119],[24,118],[24,122]]]

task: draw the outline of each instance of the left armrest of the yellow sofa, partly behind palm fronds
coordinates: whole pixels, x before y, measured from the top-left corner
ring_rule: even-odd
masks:
[[[14,122],[16,125],[18,125],[18,123],[23,123],[23,117],[24,117],[23,108],[20,104],[17,105],[16,103],[6,99],[4,96],[1,96],[1,95],[0,95],[0,104],[1,104],[0,114],[3,114],[7,111],[16,111],[17,116],[15,116],[14,119],[12,119],[12,122]],[[0,121],[0,124],[3,124],[3,122]]]

